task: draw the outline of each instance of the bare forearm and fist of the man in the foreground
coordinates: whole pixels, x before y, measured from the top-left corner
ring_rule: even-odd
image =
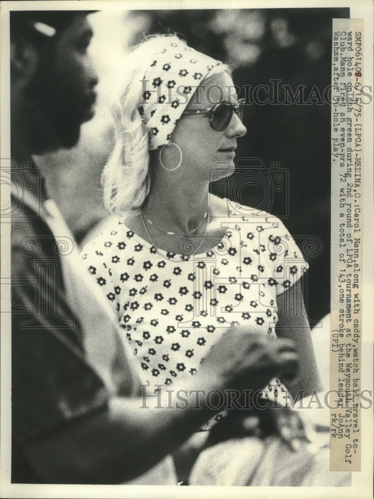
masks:
[[[204,396],[202,409],[196,409],[196,390],[257,390],[296,364],[291,342],[233,328],[213,346],[189,386],[172,385],[173,409],[156,408],[156,398],[147,398],[149,408],[141,408],[141,398],[112,398],[106,409],[49,432],[24,452],[47,483],[121,483],[150,469],[218,411]],[[192,391],[183,392],[185,409],[175,408],[178,390]]]

